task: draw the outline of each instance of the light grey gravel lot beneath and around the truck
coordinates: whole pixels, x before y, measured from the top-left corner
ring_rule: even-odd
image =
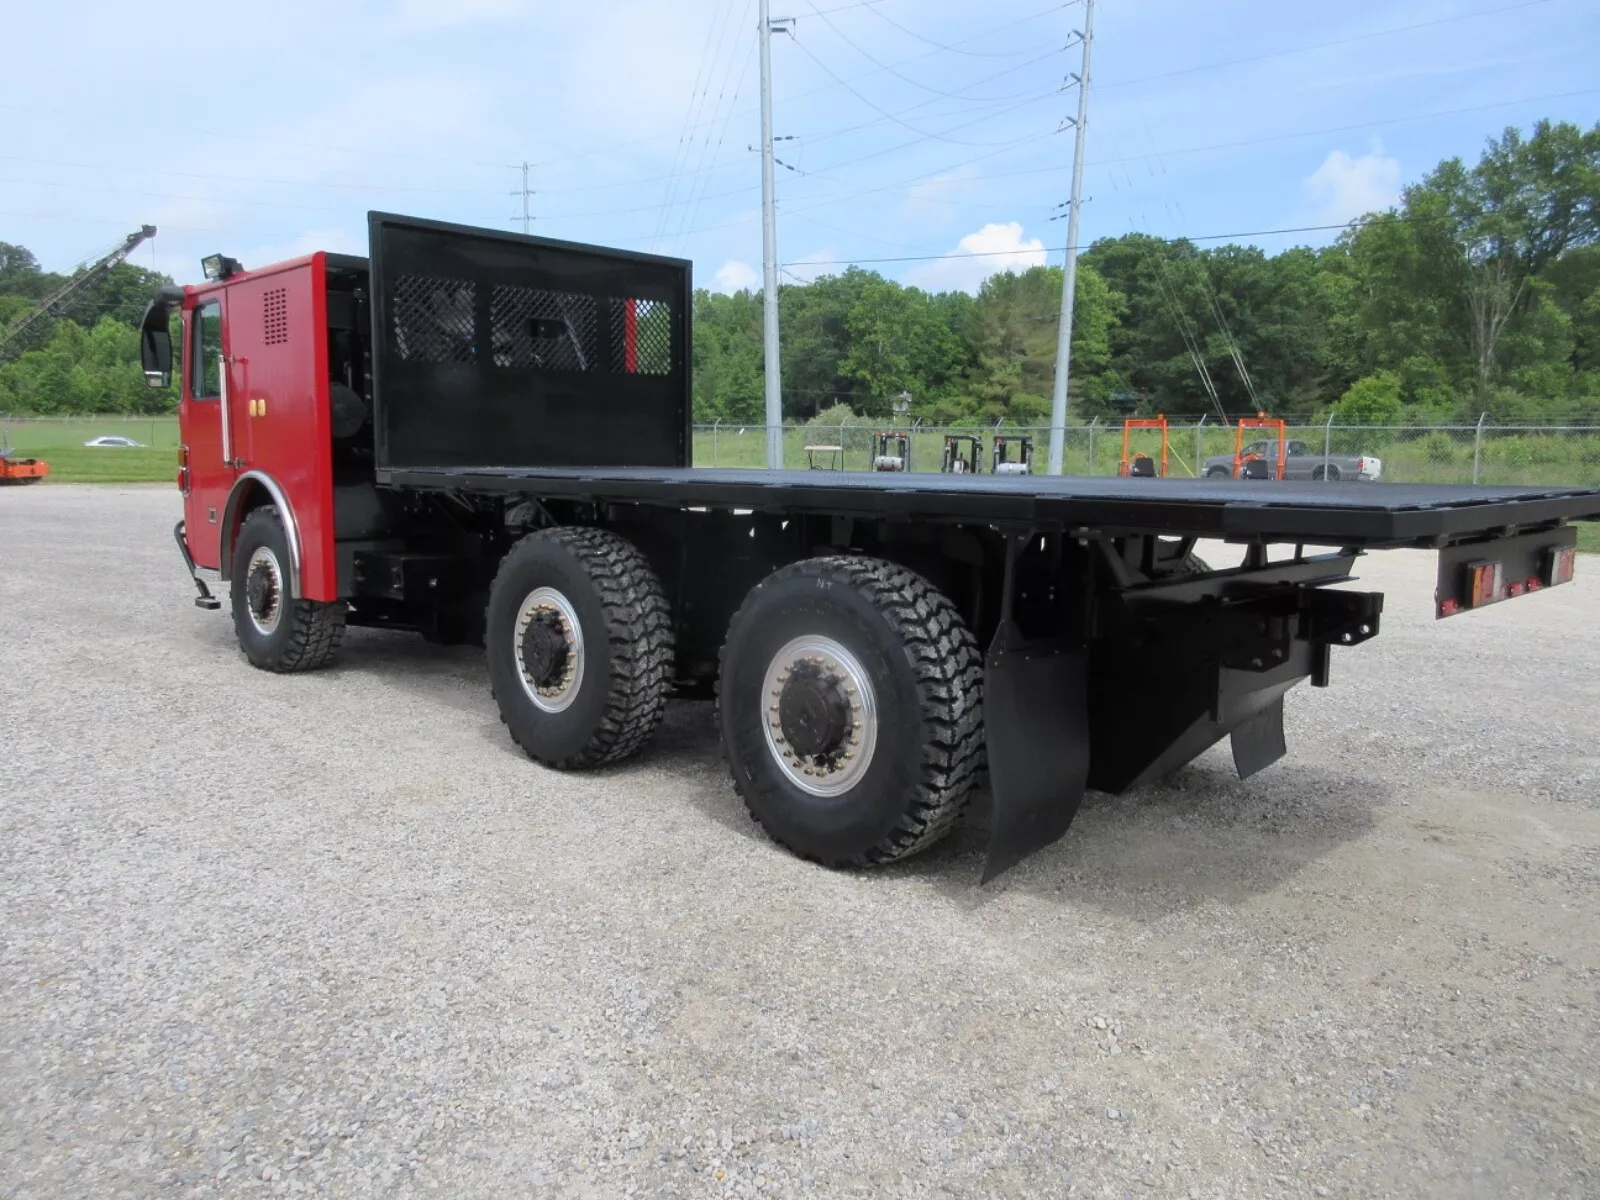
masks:
[[[0,493],[0,1192],[1600,1194],[1600,560],[979,888],[770,845],[706,706],[542,771],[482,656],[251,670],[165,488]]]

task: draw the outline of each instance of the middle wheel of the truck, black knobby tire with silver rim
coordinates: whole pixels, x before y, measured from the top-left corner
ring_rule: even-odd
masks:
[[[638,750],[666,715],[672,613],[629,541],[563,526],[523,538],[490,590],[490,688],[530,758],[573,770]]]

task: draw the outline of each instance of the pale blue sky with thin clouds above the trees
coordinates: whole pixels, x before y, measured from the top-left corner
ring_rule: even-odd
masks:
[[[870,266],[971,290],[1061,261],[1082,5],[773,14],[795,18],[773,46],[790,278],[894,259]],[[0,240],[46,267],[141,222],[162,232],[138,261],[179,280],[213,250],[365,253],[370,208],[518,227],[528,162],[533,232],[758,282],[755,0],[67,0],[5,26]],[[1597,61],[1592,0],[1101,0],[1082,238],[1347,221],[1506,125],[1594,123]]]

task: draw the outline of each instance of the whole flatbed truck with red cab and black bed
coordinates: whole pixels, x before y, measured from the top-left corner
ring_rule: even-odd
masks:
[[[1451,616],[1566,582],[1600,518],[1594,488],[701,469],[688,262],[368,221],[368,258],[218,254],[149,306],[195,603],[226,584],[277,672],[349,626],[482,643],[510,739],[557,770],[714,696],[750,814],[827,866],[933,845],[981,786],[990,878],[1086,787],[1222,738],[1250,776],[1285,694],[1378,635],[1382,595],[1341,586],[1362,554],[1437,550]]]

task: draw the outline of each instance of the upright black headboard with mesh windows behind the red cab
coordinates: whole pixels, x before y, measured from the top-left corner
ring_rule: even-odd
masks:
[[[379,469],[682,467],[690,264],[370,213]]]

